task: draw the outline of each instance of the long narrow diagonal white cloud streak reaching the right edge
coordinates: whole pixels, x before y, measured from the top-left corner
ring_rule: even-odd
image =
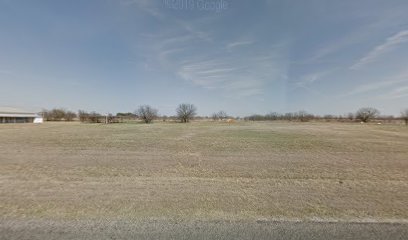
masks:
[[[380,56],[387,53],[388,51],[394,49],[398,45],[408,42],[408,30],[400,31],[397,34],[387,38],[385,43],[376,46],[371,50],[366,56],[358,60],[353,66],[350,67],[352,70],[361,68],[362,66],[376,61]]]

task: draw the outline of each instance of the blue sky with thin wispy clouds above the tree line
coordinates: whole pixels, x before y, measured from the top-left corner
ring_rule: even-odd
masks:
[[[406,0],[0,0],[0,105],[398,115],[407,13]]]

